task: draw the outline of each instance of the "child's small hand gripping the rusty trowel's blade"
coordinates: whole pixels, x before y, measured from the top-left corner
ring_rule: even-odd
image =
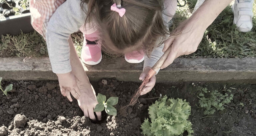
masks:
[[[144,80],[145,79],[145,77],[147,76],[147,74],[148,74],[148,71],[151,69],[151,67],[145,67],[144,68],[144,71],[140,74],[140,78],[139,78],[139,80]],[[153,89],[153,87],[155,86],[155,84],[156,84],[156,75],[154,75],[153,77],[151,77],[150,79],[149,79],[149,81],[148,81],[148,83],[147,83],[147,85],[146,85],[146,87],[142,90],[142,92],[141,92],[141,96],[142,95],[145,95],[145,94],[147,94],[148,92],[150,92],[152,89]]]

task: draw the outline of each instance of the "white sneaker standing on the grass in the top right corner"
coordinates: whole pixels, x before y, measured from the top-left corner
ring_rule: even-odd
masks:
[[[238,31],[249,32],[252,30],[252,7],[254,0],[235,0],[232,5],[234,13],[233,24],[236,24]]]

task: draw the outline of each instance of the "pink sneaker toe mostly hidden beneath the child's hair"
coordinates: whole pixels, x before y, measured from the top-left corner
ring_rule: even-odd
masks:
[[[124,59],[129,63],[140,63],[144,60],[144,52],[143,50],[140,50],[126,53]]]

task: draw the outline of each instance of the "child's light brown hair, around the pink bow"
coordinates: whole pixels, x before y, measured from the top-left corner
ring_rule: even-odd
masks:
[[[95,23],[101,32],[105,52],[123,55],[133,50],[144,49],[149,56],[154,47],[160,46],[169,34],[164,25],[163,0],[81,0],[87,4],[85,23]],[[122,5],[123,17],[110,7]],[[168,15],[167,15],[168,16]]]

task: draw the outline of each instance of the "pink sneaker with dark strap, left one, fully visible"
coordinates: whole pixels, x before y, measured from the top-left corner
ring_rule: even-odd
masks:
[[[99,64],[101,55],[101,44],[98,40],[98,32],[84,34],[84,45],[81,52],[81,59],[87,65]]]

